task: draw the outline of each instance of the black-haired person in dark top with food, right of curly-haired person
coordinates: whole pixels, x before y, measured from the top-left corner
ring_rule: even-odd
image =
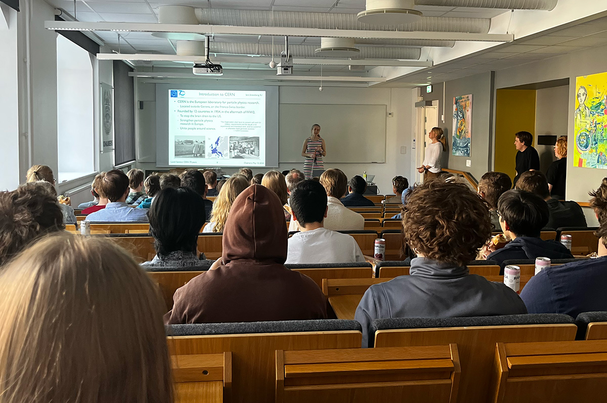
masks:
[[[506,246],[493,251],[487,259],[501,263],[510,259],[572,259],[569,249],[560,242],[544,241],[541,229],[548,222],[548,205],[536,194],[520,190],[510,190],[501,195],[497,203],[500,226],[506,239]],[[502,269],[503,271],[503,269]]]

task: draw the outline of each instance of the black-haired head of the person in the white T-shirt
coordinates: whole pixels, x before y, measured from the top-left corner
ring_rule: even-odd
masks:
[[[327,191],[319,182],[306,179],[291,191],[290,205],[300,225],[320,223],[327,211]]]

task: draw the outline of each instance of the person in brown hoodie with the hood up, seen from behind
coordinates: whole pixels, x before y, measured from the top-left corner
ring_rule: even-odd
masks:
[[[285,268],[287,227],[274,192],[251,185],[232,204],[222,265],[175,291],[164,323],[325,319],[327,305],[309,277]]]

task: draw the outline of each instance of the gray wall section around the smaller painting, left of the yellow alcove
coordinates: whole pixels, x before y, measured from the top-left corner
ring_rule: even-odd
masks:
[[[478,180],[490,171],[493,146],[493,72],[486,72],[458,80],[435,84],[433,93],[422,91],[425,101],[438,100],[438,124],[447,136],[447,151],[443,153],[443,168],[458,169],[472,173]],[[459,95],[472,94],[472,146],[470,157],[451,155],[453,131],[453,98]],[[447,107],[443,104],[446,103]],[[445,121],[441,121],[444,115]],[[471,166],[466,166],[466,160]]]

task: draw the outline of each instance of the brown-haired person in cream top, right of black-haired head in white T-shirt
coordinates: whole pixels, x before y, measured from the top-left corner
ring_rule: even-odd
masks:
[[[314,180],[314,179],[313,179]],[[344,207],[339,199],[345,194],[348,177],[340,169],[327,169],[320,175],[320,185],[327,191],[327,218],[324,227],[331,231],[356,231],[365,229],[365,218],[358,212]],[[299,231],[294,220],[289,223],[289,231]]]

